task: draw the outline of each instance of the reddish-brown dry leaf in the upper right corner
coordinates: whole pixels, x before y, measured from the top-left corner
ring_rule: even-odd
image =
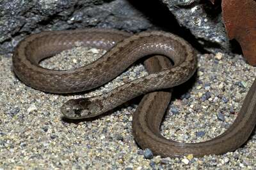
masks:
[[[222,15],[228,38],[235,38],[248,63],[256,66],[256,1],[222,0]]]

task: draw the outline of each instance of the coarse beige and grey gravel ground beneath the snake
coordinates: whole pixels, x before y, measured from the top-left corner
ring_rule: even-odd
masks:
[[[102,53],[102,50],[80,47],[47,59],[41,66],[52,69],[69,69],[70,65],[79,67]],[[166,138],[188,143],[205,141],[220,135],[234,122],[256,70],[246,64],[241,55],[219,55],[218,63],[215,55],[198,55],[195,77],[173,90],[170,109],[161,125],[161,133]],[[88,122],[72,122],[62,117],[60,107],[68,99],[104,95],[123,81],[145,76],[147,73],[140,64],[104,87],[76,95],[31,89],[13,74],[12,59],[1,56],[0,64],[0,169],[255,167],[255,132],[241,148],[224,155],[145,159],[146,150],[141,150],[132,136],[132,112],[136,102],[131,101]]]

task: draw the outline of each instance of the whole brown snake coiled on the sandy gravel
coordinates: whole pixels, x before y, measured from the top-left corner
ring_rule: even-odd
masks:
[[[108,52],[92,64],[78,69],[57,71],[39,66],[42,59],[75,46],[92,46]],[[20,41],[13,55],[13,69],[20,80],[35,89],[53,93],[82,92],[112,80],[136,60],[148,55],[164,55],[173,61],[173,66],[166,57],[147,59],[148,76],[122,85],[106,97],[67,101],[61,112],[72,119],[95,117],[146,94],[132,120],[134,138],[142,148],[150,148],[154,154],[163,157],[189,153],[200,157],[230,152],[243,145],[256,123],[256,81],[234,124],[220,136],[201,143],[177,143],[161,136],[159,127],[171,92],[159,90],[180,85],[196,70],[193,48],[184,39],[168,32],[145,31],[135,35],[106,29],[41,32]]]

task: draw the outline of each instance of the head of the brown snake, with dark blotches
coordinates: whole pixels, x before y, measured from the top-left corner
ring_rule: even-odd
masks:
[[[95,117],[100,114],[100,110],[100,101],[91,101],[89,98],[71,99],[61,106],[61,113],[70,119]]]

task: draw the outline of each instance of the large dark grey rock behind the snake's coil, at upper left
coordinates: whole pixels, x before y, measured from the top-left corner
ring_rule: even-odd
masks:
[[[45,30],[104,27],[139,32],[153,27],[127,0],[3,0],[0,11],[0,54],[12,53],[28,34]]]

